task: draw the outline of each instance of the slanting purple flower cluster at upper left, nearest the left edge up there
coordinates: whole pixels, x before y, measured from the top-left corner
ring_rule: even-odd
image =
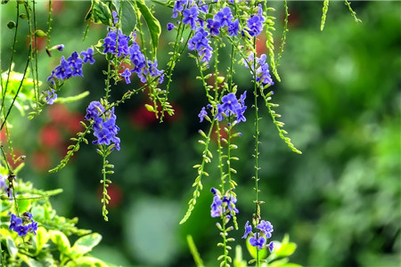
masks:
[[[57,49],[64,48],[63,44],[59,44]],[[81,56],[83,59],[81,59]],[[61,57],[60,65],[52,70],[52,74],[47,77],[48,82],[52,82],[55,85],[56,80],[66,80],[70,77],[80,76],[84,77],[82,74],[83,64],[89,62],[94,64],[94,49],[92,47],[87,48],[86,51],[82,51],[80,54],[77,52],[71,53],[70,57],[66,60],[64,56]],[[52,105],[57,99],[57,93],[55,93],[54,88],[50,88],[43,92],[45,96],[45,101],[47,104]]]

